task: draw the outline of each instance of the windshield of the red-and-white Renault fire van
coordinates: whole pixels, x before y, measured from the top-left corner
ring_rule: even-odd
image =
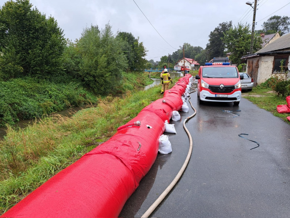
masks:
[[[205,67],[202,69],[202,77],[238,78],[238,72],[235,67]]]

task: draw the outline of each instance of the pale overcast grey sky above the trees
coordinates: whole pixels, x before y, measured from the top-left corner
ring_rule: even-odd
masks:
[[[131,32],[135,38],[139,37],[139,42],[143,42],[148,50],[146,58],[154,61],[172,54],[185,42],[205,48],[208,35],[219,23],[233,21],[233,25],[237,25],[238,22],[247,22],[252,26],[253,21],[253,8],[246,5],[248,0],[134,1],[30,0],[41,13],[56,19],[65,38],[74,41],[81,37],[86,26],[93,24],[105,28],[109,22],[114,33]],[[1,7],[5,2],[0,0]],[[255,30],[261,29],[263,22],[273,15],[289,16],[288,3],[290,0],[259,0]]]

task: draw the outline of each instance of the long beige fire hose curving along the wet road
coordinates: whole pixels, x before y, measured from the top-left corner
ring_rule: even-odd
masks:
[[[193,84],[193,83],[192,83]],[[195,86],[195,85],[194,85]],[[196,87],[196,86],[195,86]],[[192,92],[190,92],[189,94],[195,92],[196,90],[191,88]],[[188,150],[188,154],[187,154],[187,157],[185,159],[185,162],[183,163],[181,169],[179,170],[178,174],[176,175],[176,177],[174,178],[174,180],[169,184],[169,186],[163,191],[163,193],[159,196],[159,198],[157,198],[157,200],[149,207],[149,209],[141,216],[142,218],[145,218],[145,217],[149,217],[151,213],[153,213],[153,211],[156,209],[156,207],[162,202],[162,200],[166,197],[166,195],[172,190],[172,188],[176,185],[176,183],[178,182],[178,180],[180,179],[180,177],[182,176],[182,173],[184,172],[188,162],[189,162],[189,159],[190,159],[190,156],[191,156],[191,153],[192,153],[192,137],[191,137],[191,134],[189,133],[188,129],[186,128],[185,126],[185,122],[188,121],[190,118],[194,117],[195,114],[196,114],[196,110],[195,108],[192,106],[192,103],[190,101],[190,96],[188,98],[188,102],[190,103],[192,109],[194,110],[194,113],[189,116],[189,117],[186,117],[185,120],[183,121],[183,128],[185,129],[187,135],[188,135],[188,138],[189,138],[189,150]]]

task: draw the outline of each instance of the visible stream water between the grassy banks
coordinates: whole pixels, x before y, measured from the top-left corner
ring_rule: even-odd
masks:
[[[155,85],[160,84],[160,79],[154,79],[152,78],[152,80],[154,81],[152,84],[147,85],[144,87],[144,90],[147,90]],[[88,106],[84,105],[82,107],[72,107],[63,111],[59,111],[56,114],[61,114],[63,116],[66,117],[71,117],[73,114],[75,114],[77,111],[82,110],[87,108]],[[15,128],[25,128],[27,125],[33,124],[35,122],[36,119],[28,119],[28,120],[22,120],[19,121],[17,124],[14,124],[13,127]],[[6,127],[0,127],[0,139],[3,139],[5,134],[6,134]]]

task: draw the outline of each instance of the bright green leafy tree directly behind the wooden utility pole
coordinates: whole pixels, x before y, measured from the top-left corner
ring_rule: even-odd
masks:
[[[247,55],[251,45],[250,25],[238,23],[237,27],[230,28],[224,33],[224,44],[228,52],[231,52],[230,60],[234,64],[241,64],[241,57]],[[254,36],[253,52],[261,48],[262,38],[259,35]]]

